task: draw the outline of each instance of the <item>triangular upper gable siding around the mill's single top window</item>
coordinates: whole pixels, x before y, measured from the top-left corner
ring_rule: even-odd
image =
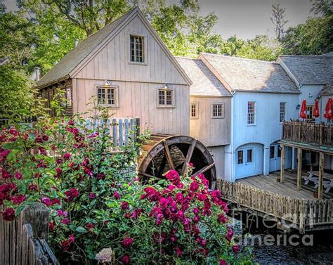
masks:
[[[129,63],[129,35],[145,37],[144,65]],[[136,15],[74,78],[187,84],[162,47]]]

